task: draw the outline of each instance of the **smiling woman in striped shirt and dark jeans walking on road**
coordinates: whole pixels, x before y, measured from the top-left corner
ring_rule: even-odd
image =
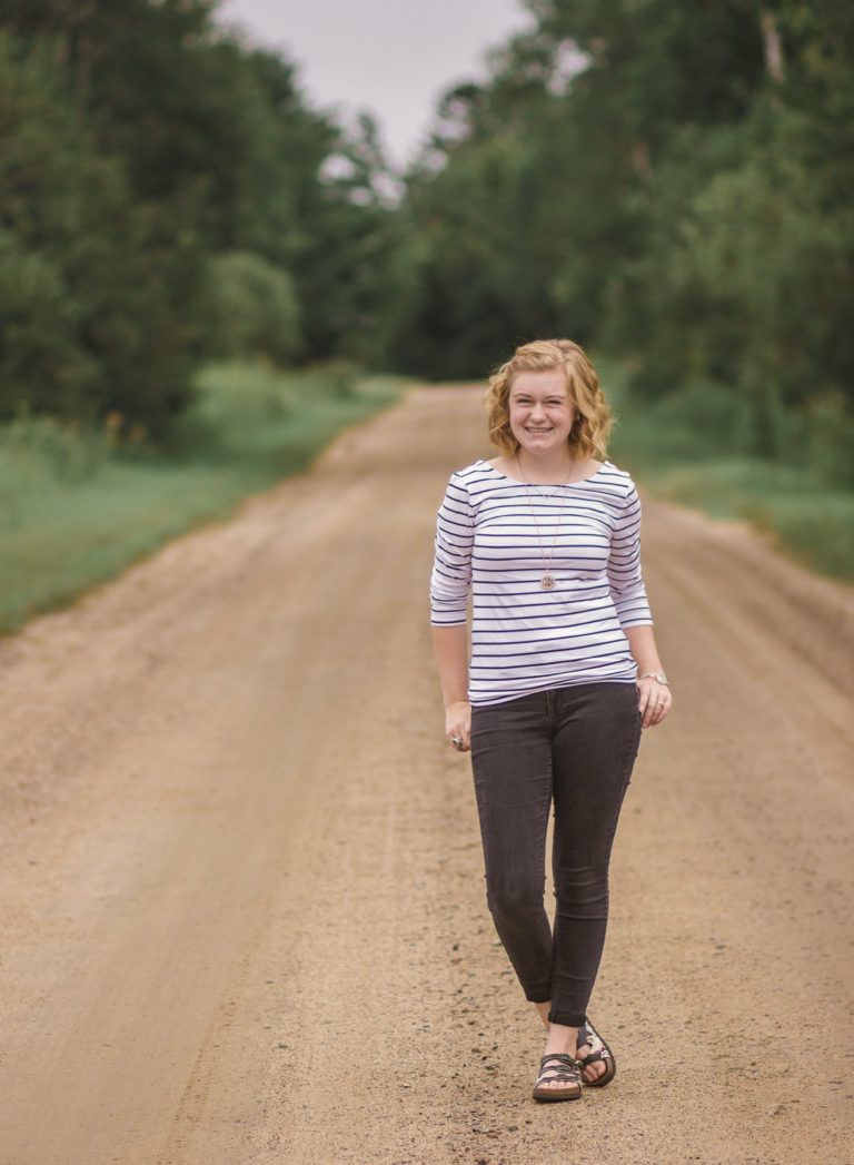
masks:
[[[547,1030],[534,1097],[575,1100],[582,1082],[602,1088],[615,1073],[588,1002],[641,727],[661,723],[670,690],[641,577],[640,502],[605,460],[611,416],[586,355],[570,340],[526,344],[486,403],[499,456],[448,485],[433,636],[446,735],[471,750],[489,908]]]

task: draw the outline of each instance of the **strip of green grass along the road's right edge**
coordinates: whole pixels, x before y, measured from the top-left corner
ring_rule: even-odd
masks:
[[[802,565],[854,582],[854,490],[828,483],[805,456],[787,465],[739,452],[721,404],[703,415],[699,394],[682,404],[634,402],[619,366],[599,363],[618,415],[611,454],[649,494],[747,521]]]

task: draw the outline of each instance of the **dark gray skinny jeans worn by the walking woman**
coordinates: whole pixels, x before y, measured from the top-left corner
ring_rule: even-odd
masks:
[[[525,995],[577,1028],[605,944],[609,862],[640,741],[634,684],[579,684],[475,707],[471,762],[486,901]],[[554,931],[543,904],[555,810]]]

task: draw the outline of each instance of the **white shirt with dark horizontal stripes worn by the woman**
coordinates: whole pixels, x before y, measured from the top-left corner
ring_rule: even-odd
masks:
[[[483,460],[451,475],[436,523],[430,622],[464,624],[471,598],[472,705],[634,682],[624,628],[653,622],[640,520],[634,482],[610,461],[567,486],[526,488]],[[550,591],[540,585],[547,569]]]

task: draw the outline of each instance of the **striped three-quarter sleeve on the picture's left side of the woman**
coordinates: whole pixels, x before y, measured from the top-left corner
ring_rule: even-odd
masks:
[[[430,623],[434,627],[465,623],[474,537],[469,492],[455,473],[436,517],[435,558],[430,574]]]

